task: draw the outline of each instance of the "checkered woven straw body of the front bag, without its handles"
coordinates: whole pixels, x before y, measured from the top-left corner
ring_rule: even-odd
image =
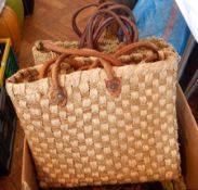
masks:
[[[167,47],[163,61],[114,67],[122,83],[118,98],[106,90],[103,68],[62,74],[67,92],[64,107],[50,102],[50,77],[36,80],[39,65],[6,81],[41,187],[181,176],[175,112],[179,56]]]

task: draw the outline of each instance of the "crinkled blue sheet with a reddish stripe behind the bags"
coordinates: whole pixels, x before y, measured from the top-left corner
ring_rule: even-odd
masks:
[[[190,31],[174,0],[138,0],[133,13],[140,39],[163,38],[183,55]]]

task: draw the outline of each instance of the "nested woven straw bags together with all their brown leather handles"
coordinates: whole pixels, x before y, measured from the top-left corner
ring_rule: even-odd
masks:
[[[82,33],[76,18],[91,5]],[[110,25],[118,40],[101,40]],[[37,65],[6,80],[40,186],[179,178],[179,54],[162,39],[138,41],[131,10],[113,2],[79,9],[72,27],[79,42],[38,41]]]

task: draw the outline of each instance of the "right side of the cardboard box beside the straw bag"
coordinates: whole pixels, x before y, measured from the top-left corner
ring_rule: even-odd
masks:
[[[180,86],[177,87],[176,110],[179,124],[184,135],[182,149],[185,157],[182,157],[182,161],[185,162],[186,167],[185,182],[188,189],[198,190],[198,127]]]

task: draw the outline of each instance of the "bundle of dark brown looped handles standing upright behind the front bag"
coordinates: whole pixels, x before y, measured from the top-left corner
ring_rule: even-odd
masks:
[[[88,21],[88,24],[83,33],[77,26],[77,16],[79,13],[90,7],[97,7],[95,13]],[[97,42],[102,34],[111,24],[117,24],[119,33],[118,39],[124,40],[127,43],[135,42],[138,39],[138,33],[135,26],[135,20],[132,11],[123,5],[116,2],[105,2],[101,5],[95,3],[87,4],[74,14],[72,16],[72,28],[75,33],[80,37],[80,48],[97,49]],[[120,36],[122,36],[120,38]]]

